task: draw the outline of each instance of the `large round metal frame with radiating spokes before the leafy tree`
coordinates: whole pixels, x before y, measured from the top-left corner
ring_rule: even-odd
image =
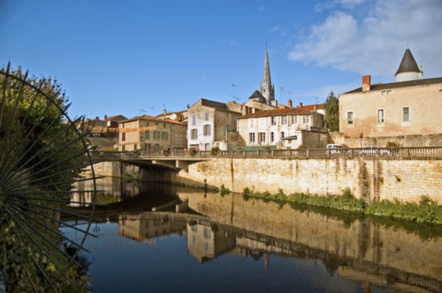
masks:
[[[28,79],[27,72],[17,77],[11,73],[8,64],[6,70],[0,70],[0,82],[0,212],[3,218],[0,229],[7,229],[15,239],[26,244],[27,257],[35,266],[33,270],[42,276],[43,282],[37,283],[24,267],[26,291],[57,292],[55,283],[60,278],[67,278],[67,270],[75,263],[78,252],[85,250],[83,245],[87,236],[92,235],[89,228],[97,191],[91,147],[86,140],[87,133],[76,127],[80,119],[72,121],[67,115],[69,105],[63,106],[58,100],[60,93],[53,93],[53,96],[44,93],[46,80],[35,84]],[[53,114],[54,109],[58,114]],[[44,127],[39,125],[49,111],[52,111],[52,120],[46,121]],[[62,152],[66,155],[61,155]],[[73,166],[79,158],[82,164]],[[64,179],[67,172],[77,173],[85,168],[91,170],[91,178]],[[66,188],[84,180],[91,180],[91,190]],[[92,195],[90,212],[85,216],[75,209],[67,211],[69,204],[80,203],[73,201],[74,195],[84,192]],[[60,220],[63,214],[87,223],[85,229]],[[71,240],[60,232],[60,227],[75,229],[82,237]],[[75,247],[75,253],[67,254],[64,245]]]

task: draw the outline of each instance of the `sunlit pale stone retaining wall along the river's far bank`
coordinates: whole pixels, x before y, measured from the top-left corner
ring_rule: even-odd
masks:
[[[376,180],[375,180],[376,178]],[[416,202],[423,194],[442,204],[441,160],[373,160],[363,158],[279,160],[215,159],[190,164],[180,171],[178,182],[193,180],[212,187],[242,192],[342,194],[352,193],[371,202],[373,198]],[[378,188],[374,188],[374,187]]]

